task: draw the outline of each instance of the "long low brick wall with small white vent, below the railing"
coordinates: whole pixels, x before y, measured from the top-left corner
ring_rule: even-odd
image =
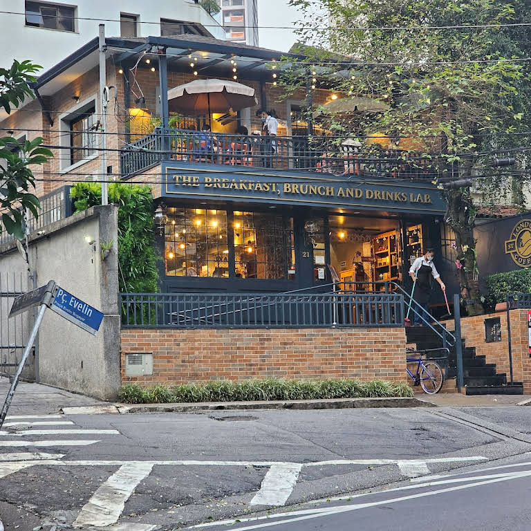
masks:
[[[122,329],[122,382],[248,378],[405,381],[404,328]],[[153,375],[125,376],[125,353],[153,353]]]

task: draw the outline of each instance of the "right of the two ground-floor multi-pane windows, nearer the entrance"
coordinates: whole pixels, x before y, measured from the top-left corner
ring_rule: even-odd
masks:
[[[278,214],[234,212],[236,277],[294,279],[293,221]]]

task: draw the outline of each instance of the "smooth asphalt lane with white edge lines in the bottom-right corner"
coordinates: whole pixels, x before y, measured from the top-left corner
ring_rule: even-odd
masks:
[[[419,478],[409,485],[353,494],[347,500],[307,503],[289,512],[201,525],[212,531],[409,531],[425,528],[528,531],[531,461],[475,466],[473,470]],[[190,528],[192,529],[192,528]]]

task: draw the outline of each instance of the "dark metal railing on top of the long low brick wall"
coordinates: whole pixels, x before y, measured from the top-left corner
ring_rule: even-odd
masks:
[[[404,326],[395,293],[122,293],[122,328]]]

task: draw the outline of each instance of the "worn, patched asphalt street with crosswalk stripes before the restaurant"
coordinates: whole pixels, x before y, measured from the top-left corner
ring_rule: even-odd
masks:
[[[0,432],[0,519],[6,531],[169,531],[297,510],[521,455],[531,451],[530,417],[522,407],[125,415],[19,408]],[[335,529],[325,520],[289,525]]]

